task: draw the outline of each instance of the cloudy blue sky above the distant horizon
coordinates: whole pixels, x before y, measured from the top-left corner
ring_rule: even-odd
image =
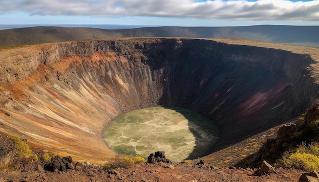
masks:
[[[319,25],[319,0],[0,0],[0,24]]]

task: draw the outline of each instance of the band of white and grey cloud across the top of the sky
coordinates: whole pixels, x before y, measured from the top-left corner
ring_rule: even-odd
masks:
[[[319,20],[319,1],[249,2],[195,0],[2,0],[0,14],[69,16],[151,16],[232,20]]]

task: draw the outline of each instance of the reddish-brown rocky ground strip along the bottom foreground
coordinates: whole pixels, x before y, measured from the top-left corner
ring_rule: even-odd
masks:
[[[0,181],[298,181],[303,173],[296,169],[277,168],[276,173],[254,175],[255,169],[229,169],[199,167],[194,164],[174,163],[171,166],[159,164],[138,164],[128,169],[104,170],[85,166],[65,172],[49,172],[42,168],[14,173],[0,171]]]

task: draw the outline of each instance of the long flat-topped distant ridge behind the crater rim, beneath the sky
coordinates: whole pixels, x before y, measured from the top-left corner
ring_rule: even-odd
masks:
[[[36,26],[0,30],[0,46],[120,37],[228,38],[319,47],[319,26],[143,27],[100,29]]]

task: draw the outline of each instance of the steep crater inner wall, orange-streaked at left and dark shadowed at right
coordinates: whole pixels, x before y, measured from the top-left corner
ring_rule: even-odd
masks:
[[[309,55],[210,40],[124,39],[1,51],[0,130],[72,155],[114,153],[105,123],[141,107],[176,106],[211,118],[218,145],[306,110],[318,86]]]

